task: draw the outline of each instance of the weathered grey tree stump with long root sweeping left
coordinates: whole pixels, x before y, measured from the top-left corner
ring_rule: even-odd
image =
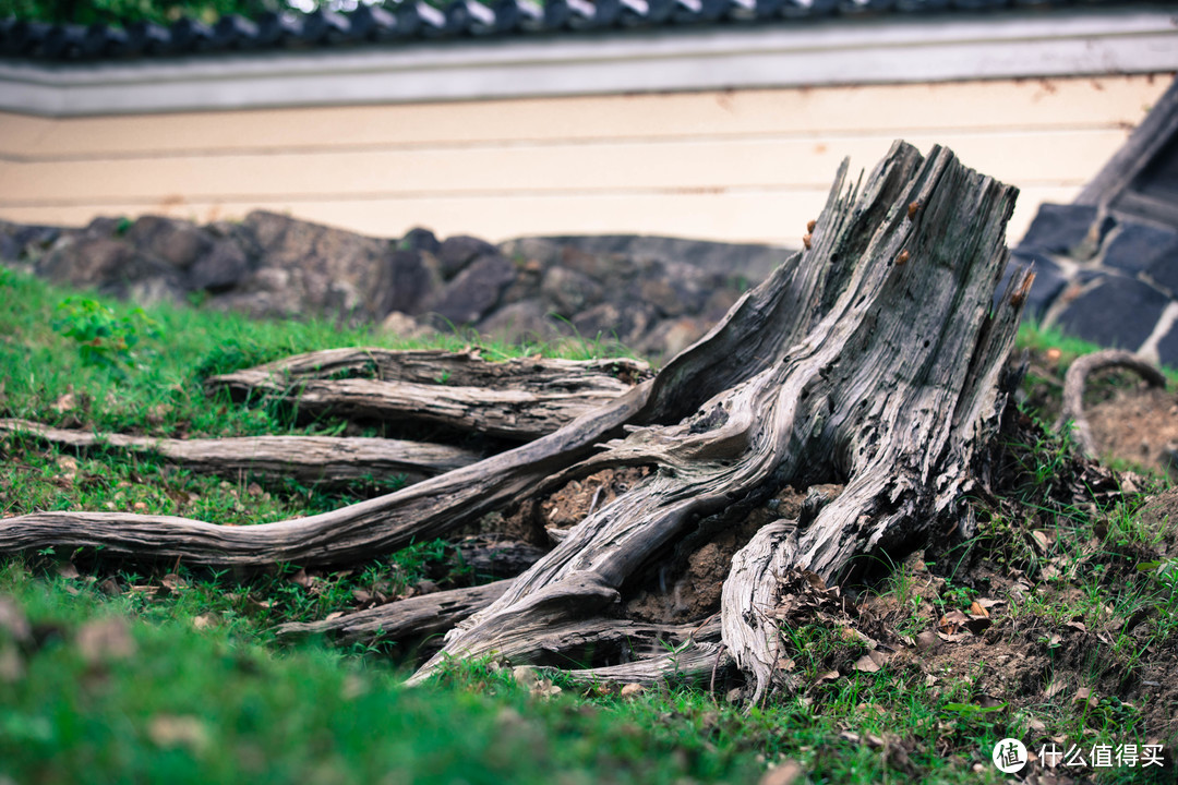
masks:
[[[788,571],[839,580],[867,557],[964,518],[964,497],[985,481],[1002,365],[1031,284],[1017,274],[992,306],[1014,188],[948,149],[926,158],[904,142],[861,188],[847,186],[846,168],[805,251],[655,378],[535,441],[311,518],[225,527],[45,512],[0,521],[0,551],[101,545],[203,564],[340,564],[443,535],[594,472],[648,467],[510,581],[445,598],[450,613],[425,611],[426,598],[399,604],[405,619],[429,612],[454,623],[412,680],[455,656],[580,663],[589,667],[568,672],[623,680],[700,676],[730,658],[759,698],[782,681],[773,610]],[[627,618],[624,600],[693,548],[736,531],[787,486],[818,484],[842,490],[814,495],[739,547],[716,613],[687,625]],[[397,612],[382,608],[393,616],[379,624],[399,624]]]

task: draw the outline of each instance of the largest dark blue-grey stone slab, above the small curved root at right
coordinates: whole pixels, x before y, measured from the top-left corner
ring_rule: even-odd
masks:
[[[1107,275],[1060,313],[1064,332],[1084,340],[1136,351],[1153,333],[1170,298],[1134,278]]]

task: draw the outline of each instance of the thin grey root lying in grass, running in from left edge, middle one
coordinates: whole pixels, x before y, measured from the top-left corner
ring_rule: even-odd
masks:
[[[0,420],[0,433],[27,433],[73,450],[113,447],[159,455],[206,474],[284,477],[304,483],[349,483],[403,477],[406,484],[469,466],[478,453],[448,445],[359,437],[232,437],[157,439],[54,428],[29,420]]]

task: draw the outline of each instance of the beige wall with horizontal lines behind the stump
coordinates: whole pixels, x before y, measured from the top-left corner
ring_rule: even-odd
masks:
[[[1169,75],[42,119],[0,113],[0,218],[254,208],[393,237],[642,233],[796,246],[839,161],[895,138],[1070,201]],[[854,171],[854,169],[853,169]]]

